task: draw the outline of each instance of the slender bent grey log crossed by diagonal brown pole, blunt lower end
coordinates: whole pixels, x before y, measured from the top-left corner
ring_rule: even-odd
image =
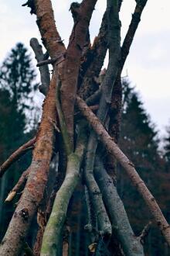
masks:
[[[97,116],[99,116],[102,123],[104,123],[107,111],[109,109],[110,97],[114,81],[117,76],[118,62],[120,58],[120,21],[118,16],[118,2],[107,2],[107,43],[109,45],[109,64],[107,68],[107,73],[104,76],[104,81],[101,85],[102,94],[100,98],[100,105],[97,111]],[[107,216],[106,209],[104,207],[104,202],[100,195],[100,189],[98,188],[97,182],[93,178],[93,166],[94,158],[97,150],[97,137],[92,131],[90,133],[90,139],[87,145],[87,159],[85,166],[85,181],[90,192],[90,197],[92,199],[93,208],[97,213],[97,222],[99,226],[99,231],[103,234],[111,234],[110,221]]]

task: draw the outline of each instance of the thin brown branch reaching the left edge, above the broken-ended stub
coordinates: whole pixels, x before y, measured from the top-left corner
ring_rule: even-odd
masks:
[[[22,155],[26,154],[29,150],[32,150],[33,145],[36,143],[36,137],[34,137],[32,140],[29,140],[26,142],[26,144],[23,144],[21,147],[18,148],[18,150],[15,150],[14,153],[8,159],[0,166],[0,177],[2,177],[5,174],[5,171],[13,164],[15,161],[17,161]]]

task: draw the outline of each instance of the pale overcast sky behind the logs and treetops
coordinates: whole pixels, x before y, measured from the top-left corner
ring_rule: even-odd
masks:
[[[70,0],[53,0],[56,26],[60,36],[68,43],[73,20],[69,12]],[[80,2],[80,1],[78,1]],[[29,47],[31,37],[40,39],[36,26],[36,16],[22,7],[21,0],[0,0],[0,61],[7,52],[22,42]],[[124,0],[121,11],[121,40],[131,21],[134,0]],[[90,23],[90,36],[97,35],[106,0],[98,0],[93,19]],[[125,64],[123,75],[127,74],[132,85],[136,85],[145,109],[161,134],[170,124],[170,1],[148,0],[141,16],[141,23],[135,35],[133,45]],[[31,49],[30,49],[31,50]],[[32,54],[33,57],[33,54]]]

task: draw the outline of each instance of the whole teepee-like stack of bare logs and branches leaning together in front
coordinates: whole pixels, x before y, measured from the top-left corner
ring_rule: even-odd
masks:
[[[41,92],[46,98],[36,143],[31,140],[22,145],[1,167],[1,173],[5,173],[16,155],[35,143],[32,163],[8,195],[8,200],[12,200],[21,185],[25,185],[2,240],[2,256],[68,255],[72,227],[67,222],[67,213],[70,207],[75,207],[71,199],[80,183],[87,202],[85,229],[90,254],[144,255],[142,244],[146,229],[139,237],[134,235],[117,194],[117,161],[145,200],[170,245],[170,227],[161,209],[134,164],[117,146],[121,124],[121,71],[147,0],[136,0],[122,45],[121,0],[107,0],[99,34],[90,43],[89,24],[96,3],[97,0],[83,0],[70,5],[74,24],[67,48],[56,29],[50,0],[29,0],[24,4],[36,15],[46,47],[43,54],[35,38],[30,42],[42,78]],[[100,72],[107,50],[107,70]],[[51,78],[47,64],[53,64]],[[58,171],[51,190],[49,179],[53,177],[49,164],[56,154]],[[39,229],[30,247],[28,234],[35,218]]]

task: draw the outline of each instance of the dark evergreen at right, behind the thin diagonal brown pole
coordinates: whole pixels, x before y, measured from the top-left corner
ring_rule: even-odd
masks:
[[[159,202],[162,199],[162,184],[165,182],[165,176],[163,175],[164,161],[158,151],[158,133],[155,131],[155,126],[151,123],[138,93],[131,88],[128,81],[123,82],[123,89],[124,106],[120,147],[134,163],[139,175]],[[139,235],[151,219],[151,215],[137,190],[124,175],[122,168],[119,167],[117,175],[117,189],[124,201],[132,227]],[[161,206],[166,205],[165,201],[159,203]],[[161,255],[163,250],[158,229],[152,227],[145,245],[145,252],[149,255]]]

